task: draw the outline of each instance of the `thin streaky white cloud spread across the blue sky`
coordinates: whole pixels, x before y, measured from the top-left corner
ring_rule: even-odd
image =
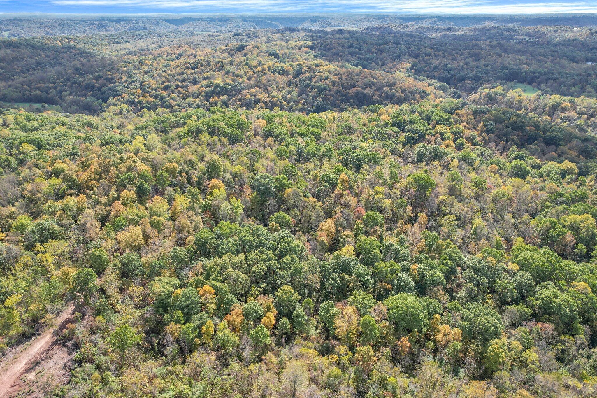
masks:
[[[296,13],[422,13],[422,14],[551,14],[597,13],[594,0],[508,1],[496,0],[52,0],[56,5],[160,8],[181,11]]]

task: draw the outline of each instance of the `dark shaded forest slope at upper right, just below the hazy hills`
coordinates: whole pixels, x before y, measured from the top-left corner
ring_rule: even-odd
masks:
[[[376,33],[321,32],[309,38],[311,48],[327,60],[374,70],[406,67],[467,93],[484,84],[512,81],[546,94],[597,93],[597,68],[587,64],[597,61],[593,29],[476,27],[433,38],[387,29]]]

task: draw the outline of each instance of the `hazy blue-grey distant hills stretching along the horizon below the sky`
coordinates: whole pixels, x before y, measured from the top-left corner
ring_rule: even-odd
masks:
[[[597,26],[597,17],[586,15],[559,16],[429,16],[379,14],[272,14],[232,16],[227,14],[199,16],[165,14],[157,16],[66,16],[40,14],[5,14],[0,17],[0,36],[93,35],[116,32],[235,32],[249,29],[301,27],[364,28],[386,26],[472,27],[487,25],[517,26]]]

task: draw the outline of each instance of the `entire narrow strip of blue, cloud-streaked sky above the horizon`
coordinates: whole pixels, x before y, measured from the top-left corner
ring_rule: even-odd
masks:
[[[0,13],[597,13],[597,0],[0,0]]]

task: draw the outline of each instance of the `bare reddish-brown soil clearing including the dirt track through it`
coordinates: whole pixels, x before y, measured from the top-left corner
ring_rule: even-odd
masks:
[[[72,355],[58,337],[74,315],[75,307],[69,305],[57,317],[55,327],[13,348],[0,360],[0,397],[42,397],[68,380],[66,365]]]

